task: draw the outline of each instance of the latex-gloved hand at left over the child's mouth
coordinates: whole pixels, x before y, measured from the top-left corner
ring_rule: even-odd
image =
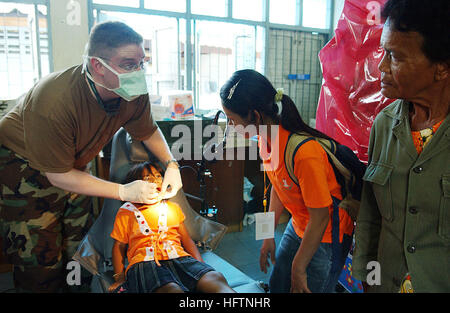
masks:
[[[153,204],[158,202],[156,184],[135,180],[126,185],[119,185],[119,197],[122,201]]]

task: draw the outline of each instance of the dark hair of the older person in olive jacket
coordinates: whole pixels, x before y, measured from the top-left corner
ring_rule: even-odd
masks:
[[[422,35],[422,51],[431,62],[450,60],[449,0],[389,0],[381,16],[397,31]]]

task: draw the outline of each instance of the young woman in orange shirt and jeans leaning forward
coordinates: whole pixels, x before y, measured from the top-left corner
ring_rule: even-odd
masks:
[[[294,156],[298,185],[284,164],[290,134],[331,138],[306,125],[289,96],[256,71],[235,72],[221,88],[220,97],[236,130],[246,137],[258,135],[260,156],[272,183],[269,211],[275,212],[275,225],[284,209],[292,215],[276,254],[274,239],[265,239],[261,248],[261,270],[267,272],[268,257],[274,264],[270,291],[334,292],[351,246],[353,222],[338,207],[342,196],[333,168],[314,140],[303,144]],[[339,215],[339,242],[332,240],[333,208]]]

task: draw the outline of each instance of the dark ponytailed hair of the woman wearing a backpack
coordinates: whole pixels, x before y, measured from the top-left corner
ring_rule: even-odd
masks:
[[[234,86],[236,87],[230,97],[230,89]],[[264,113],[269,116],[292,133],[306,132],[315,137],[331,139],[303,121],[297,107],[288,95],[283,94],[282,110],[281,114],[278,114],[278,105],[275,103],[276,93],[272,83],[264,75],[254,70],[240,70],[234,72],[222,86],[220,98],[224,107],[242,118],[247,118],[249,112],[256,110],[260,114]]]

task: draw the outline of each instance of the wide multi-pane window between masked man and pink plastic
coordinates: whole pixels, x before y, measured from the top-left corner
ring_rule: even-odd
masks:
[[[94,3],[92,17],[96,21],[119,19],[143,35],[146,54],[151,60],[146,74],[151,94],[162,96],[166,91],[192,90],[196,112],[205,113],[221,108],[220,87],[234,71],[251,68],[277,83],[277,87],[292,86],[289,92],[296,97],[298,105],[307,107],[308,115],[315,112],[316,87],[321,81],[316,59],[325,44],[324,36],[328,36],[327,19],[331,16],[332,0],[88,1]],[[117,7],[109,7],[114,5]],[[187,14],[188,7],[191,15]],[[139,12],[136,8],[145,10]],[[315,33],[305,31],[304,27],[315,28]],[[299,34],[288,35],[289,32]],[[320,40],[315,38],[318,34]],[[300,48],[296,47],[299,45]],[[302,54],[297,57],[299,49]],[[280,56],[286,53],[292,60],[298,59],[289,70],[287,67],[294,65],[280,61]],[[303,63],[311,63],[311,69],[299,67]],[[277,64],[275,69],[274,64]],[[289,73],[310,74],[311,79],[289,81],[286,78]],[[297,94],[302,97],[305,94],[307,98]]]

